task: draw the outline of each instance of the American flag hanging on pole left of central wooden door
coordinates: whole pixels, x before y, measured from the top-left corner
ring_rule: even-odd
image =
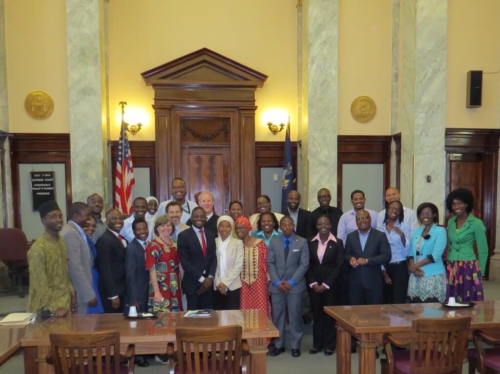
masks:
[[[114,182],[114,207],[123,214],[132,213],[130,195],[134,184],[132,155],[130,153],[130,146],[128,145],[125,124],[123,119],[121,119],[118,159],[116,160],[116,180]]]

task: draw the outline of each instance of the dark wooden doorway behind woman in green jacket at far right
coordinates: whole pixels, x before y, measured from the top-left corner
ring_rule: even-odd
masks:
[[[446,195],[456,188],[472,191],[472,213],[486,227],[489,253],[484,276],[495,248],[499,139],[498,129],[447,128],[444,141]],[[445,214],[447,221],[449,212]]]

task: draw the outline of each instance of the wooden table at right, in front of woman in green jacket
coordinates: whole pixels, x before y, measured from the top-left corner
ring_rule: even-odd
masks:
[[[473,308],[448,309],[439,303],[394,304],[325,307],[336,320],[337,373],[350,374],[350,340],[358,342],[359,373],[375,373],[375,348],[382,343],[384,333],[407,338],[414,318],[471,317],[469,336],[473,330],[500,332],[500,301],[477,302]],[[410,311],[414,314],[405,314]]]

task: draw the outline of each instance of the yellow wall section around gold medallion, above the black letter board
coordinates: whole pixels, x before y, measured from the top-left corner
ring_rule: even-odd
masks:
[[[61,0],[4,0],[9,132],[69,132],[66,10]],[[48,93],[54,111],[29,117],[24,99]]]

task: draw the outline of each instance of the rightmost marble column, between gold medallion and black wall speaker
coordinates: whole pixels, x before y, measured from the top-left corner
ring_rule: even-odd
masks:
[[[447,1],[404,0],[401,6],[401,201],[413,208],[432,202],[442,221]]]

